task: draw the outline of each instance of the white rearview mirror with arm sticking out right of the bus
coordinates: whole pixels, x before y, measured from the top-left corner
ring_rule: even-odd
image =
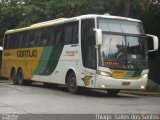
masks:
[[[147,34],[146,36],[147,36],[148,52],[153,52],[158,50],[158,37],[150,34]]]

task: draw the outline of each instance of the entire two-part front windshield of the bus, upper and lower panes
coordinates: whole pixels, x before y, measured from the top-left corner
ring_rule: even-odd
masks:
[[[146,42],[141,22],[98,19],[102,30],[99,65],[111,69],[145,69]]]

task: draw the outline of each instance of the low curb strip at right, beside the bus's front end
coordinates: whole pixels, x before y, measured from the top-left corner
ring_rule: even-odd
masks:
[[[131,95],[160,97],[160,93],[155,93],[155,92],[121,91],[121,93],[131,94]]]

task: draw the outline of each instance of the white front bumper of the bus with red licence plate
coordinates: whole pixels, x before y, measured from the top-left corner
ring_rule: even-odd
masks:
[[[96,76],[97,89],[145,89],[148,77],[138,79],[116,79],[101,75]]]

